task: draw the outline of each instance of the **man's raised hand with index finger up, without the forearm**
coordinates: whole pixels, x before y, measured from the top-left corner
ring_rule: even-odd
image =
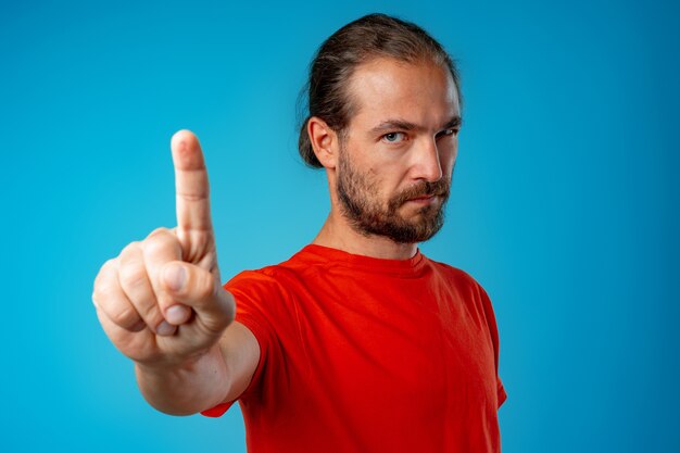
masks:
[[[222,288],[207,172],[197,137],[172,139],[177,227],[159,228],[104,263],[92,300],[111,341],[142,365],[173,366],[209,351],[234,319]]]

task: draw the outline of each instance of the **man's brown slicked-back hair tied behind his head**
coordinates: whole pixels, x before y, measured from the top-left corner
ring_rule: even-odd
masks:
[[[310,65],[310,78],[301,95],[306,93],[306,115],[300,127],[298,149],[311,167],[320,168],[310,136],[307,122],[318,116],[343,138],[353,108],[348,85],[354,70],[376,58],[407,63],[432,62],[449,68],[462,102],[459,76],[455,63],[443,47],[427,32],[411,22],[386,14],[368,14],[340,28],[318,48]],[[304,99],[304,98],[302,98]]]

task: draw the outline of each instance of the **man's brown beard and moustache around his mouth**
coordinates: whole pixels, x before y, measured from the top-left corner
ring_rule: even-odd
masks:
[[[380,200],[372,198],[373,193],[379,193],[376,183],[352,165],[347,150],[340,151],[337,183],[340,210],[362,235],[383,236],[396,243],[430,239],[444,224],[444,204],[450,188],[451,178],[436,183],[420,181],[394,194],[385,207]],[[412,221],[400,215],[399,209],[408,200],[429,196],[440,197],[441,202],[420,207]]]

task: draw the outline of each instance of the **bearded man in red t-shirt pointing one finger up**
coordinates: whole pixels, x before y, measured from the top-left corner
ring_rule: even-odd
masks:
[[[172,140],[177,227],[106,262],[95,305],[171,414],[239,401],[252,452],[498,452],[498,330],[483,289],[425,257],[461,126],[451,59],[374,14],[319,48],[300,152],[331,210],[279,265],[221,284],[198,139]],[[235,319],[236,317],[236,319]]]

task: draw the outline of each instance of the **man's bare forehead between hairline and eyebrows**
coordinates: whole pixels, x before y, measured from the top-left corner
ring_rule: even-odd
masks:
[[[370,127],[392,118],[443,125],[461,115],[450,71],[431,61],[374,59],[356,67],[348,91],[353,119],[376,123]]]

